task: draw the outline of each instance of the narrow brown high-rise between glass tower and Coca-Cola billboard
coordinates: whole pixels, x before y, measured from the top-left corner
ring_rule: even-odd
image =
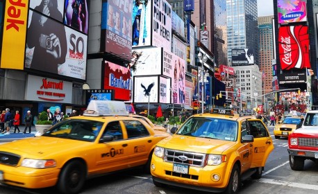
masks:
[[[271,80],[273,73],[271,71],[271,62],[274,59],[274,43],[273,43],[273,15],[258,17],[258,33],[259,33],[259,64],[262,72],[263,94],[272,91]]]

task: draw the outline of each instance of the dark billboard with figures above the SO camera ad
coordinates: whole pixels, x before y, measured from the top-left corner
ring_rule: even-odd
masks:
[[[89,5],[89,0],[65,0],[64,24],[87,34]]]

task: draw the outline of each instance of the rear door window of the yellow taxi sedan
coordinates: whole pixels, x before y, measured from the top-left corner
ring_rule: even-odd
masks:
[[[124,121],[124,124],[129,139],[149,136],[147,128],[140,121]]]

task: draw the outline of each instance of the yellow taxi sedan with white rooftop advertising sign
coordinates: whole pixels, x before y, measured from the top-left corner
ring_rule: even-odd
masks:
[[[168,136],[128,116],[123,102],[92,100],[83,116],[0,145],[0,182],[78,193],[92,177],[135,166],[149,171],[156,143]]]

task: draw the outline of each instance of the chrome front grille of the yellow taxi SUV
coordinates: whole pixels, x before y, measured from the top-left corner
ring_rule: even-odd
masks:
[[[185,156],[187,160],[182,161],[179,157]],[[188,164],[190,166],[203,167],[206,155],[195,152],[183,152],[179,150],[165,150],[165,161]]]

